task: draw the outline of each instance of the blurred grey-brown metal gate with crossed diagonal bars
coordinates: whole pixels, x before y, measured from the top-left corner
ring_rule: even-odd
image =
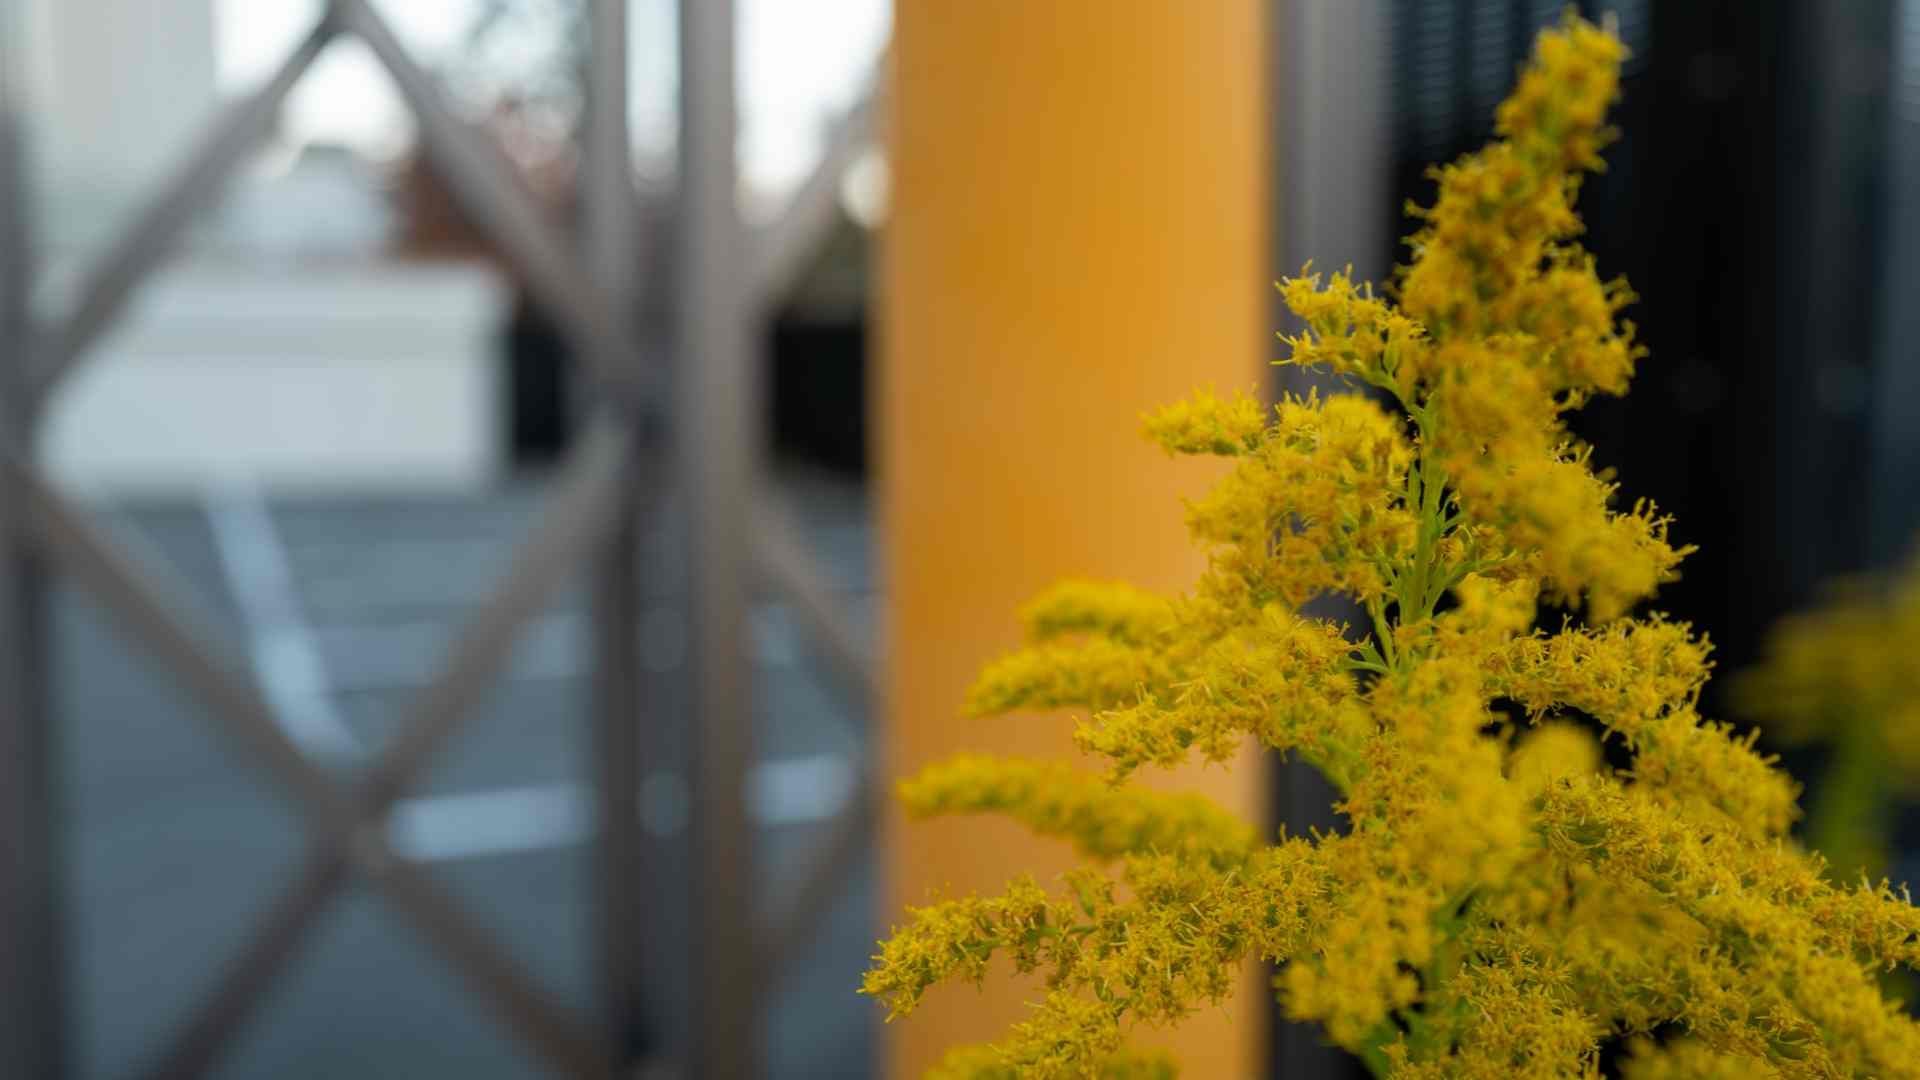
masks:
[[[56,492],[31,455],[40,405],[111,327],[192,215],[269,135],[280,104],[336,35],[361,38],[392,73],[419,121],[424,150],[482,233],[561,325],[603,402],[561,465],[541,519],[492,596],[467,619],[436,680],[413,701],[384,753],[351,782],[309,761],[275,723],[240,667],[207,642],[156,569],[142,565]],[[770,302],[831,227],[841,175],[870,136],[874,106],[856,108],[787,213],[747,234],[733,204],[733,4],[680,2],[680,183],[674,213],[670,332],[636,325],[641,223],[626,121],[626,2],[589,0],[586,86],[586,250],[572,252],[520,188],[488,135],[459,117],[438,81],[394,37],[369,0],[330,0],[313,31],[252,96],[219,117],[186,163],[83,277],[54,325],[29,309],[33,238],[23,198],[17,63],[0,54],[0,1065],[8,1076],[60,1078],[63,1047],[58,882],[48,815],[48,711],[42,696],[44,575],[81,582],[205,707],[301,813],[307,855],[215,990],[146,1070],[200,1076],[232,1042],[267,986],[351,880],[369,882],[480,995],[493,1019],[555,1074],[737,1078],[758,1068],[756,986],[791,963],[831,905],[849,865],[868,847],[872,776],[810,859],[810,876],[778,911],[756,911],[753,834],[745,813],[749,728],[745,609],[762,575],[803,619],[849,684],[877,696],[866,650],[816,571],[797,527],[755,498],[755,352]],[[666,350],[643,350],[664,336]],[[672,369],[659,354],[676,359]],[[641,1063],[639,976],[647,940],[636,794],[636,676],[641,425],[670,394],[670,482],[687,507],[693,628],[691,844],[695,1030],[689,1059]],[[576,1017],[534,986],[509,953],[417,861],[388,844],[388,811],[459,730],[520,626],[572,571],[593,582],[597,1015]],[[749,928],[749,932],[741,932]],[[653,1074],[653,1072],[649,1072]]]

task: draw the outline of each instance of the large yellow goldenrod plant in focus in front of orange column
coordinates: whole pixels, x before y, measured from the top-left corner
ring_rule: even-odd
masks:
[[[1563,423],[1642,352],[1572,209],[1622,52],[1572,17],[1538,38],[1496,140],[1434,173],[1390,298],[1281,286],[1306,325],[1286,363],[1377,396],[1146,417],[1167,452],[1231,459],[1187,507],[1206,573],[1177,598],[1046,592],[966,703],[1083,709],[1104,774],[960,757],[900,786],[912,815],[1010,815],[1087,859],[912,907],[879,945],[864,992],[891,1017],[996,957],[1044,986],[937,1076],[1167,1076],[1129,1034],[1219,1001],[1250,959],[1382,1076],[1588,1076],[1613,1042],[1642,1078],[1920,1076],[1920,1026],[1878,978],[1920,963],[1920,911],[1789,840],[1793,782],[1695,709],[1705,638],[1630,615],[1686,548],[1651,505],[1617,509]],[[1323,594],[1365,625],[1308,615]],[[1246,740],[1317,767],[1344,826],[1269,844],[1129,784]]]

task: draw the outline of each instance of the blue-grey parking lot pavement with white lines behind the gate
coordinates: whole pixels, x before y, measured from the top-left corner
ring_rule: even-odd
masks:
[[[835,586],[870,621],[876,582],[864,498],[820,477],[791,477],[785,490]],[[253,657],[269,698],[303,717],[296,734],[323,751],[340,744],[334,767],[348,771],[392,734],[457,619],[505,569],[538,496],[538,484],[482,500],[255,500],[242,492],[104,507],[102,517],[177,575],[223,646]],[[685,1026],[685,972],[697,957],[685,945],[678,872],[685,851],[676,757],[685,738],[672,582],[682,559],[670,523],[655,527],[643,557],[649,601],[637,659],[647,675],[641,803],[655,897],[634,919],[647,920],[655,944],[651,1034],[672,1047]],[[278,586],[273,559],[284,567]],[[568,588],[541,615],[409,803],[424,822],[413,842],[430,853],[434,874],[555,999],[582,1013],[591,1003],[593,911],[578,821],[549,821],[501,796],[564,794],[584,780],[584,600],[582,588]],[[772,903],[826,832],[820,819],[845,794],[866,721],[778,605],[756,607],[753,626],[756,755],[776,765],[756,788],[764,805],[755,867],[764,882],[758,892]],[[54,590],[50,651],[73,1043],[83,1076],[121,1078],[194,1011],[282,888],[303,851],[300,822],[198,705],[65,582]],[[772,978],[768,1076],[870,1074],[879,1017],[852,990],[874,945],[872,892],[866,865],[795,970]],[[217,1074],[518,1078],[541,1070],[394,911],[353,890],[323,917]]]

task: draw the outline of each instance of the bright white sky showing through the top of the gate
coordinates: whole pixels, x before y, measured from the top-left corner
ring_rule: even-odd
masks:
[[[225,94],[267,77],[313,25],[319,0],[211,0],[215,71]],[[428,65],[449,56],[480,0],[374,0]],[[674,0],[632,0],[636,150],[664,152],[674,133]],[[812,167],[826,123],[852,104],[887,38],[889,0],[741,0],[741,173],[751,190],[783,192]],[[348,142],[388,156],[413,121],[372,54],[338,40],[286,108],[296,142]]]

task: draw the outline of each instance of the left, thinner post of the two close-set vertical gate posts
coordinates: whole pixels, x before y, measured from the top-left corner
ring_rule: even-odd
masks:
[[[626,125],[626,0],[593,0],[588,27],[586,77],[586,171],[582,177],[586,261],[609,302],[620,356],[591,365],[607,379],[628,380],[637,359],[634,346],[637,261],[637,213],[634,204],[634,152]],[[626,423],[632,423],[630,419]],[[593,563],[593,740],[591,774],[597,796],[595,876],[599,886],[599,988],[601,1034],[614,1074],[622,1076],[651,1051],[641,1007],[641,836],[639,815],[639,682],[636,628],[639,578],[632,490]]]

